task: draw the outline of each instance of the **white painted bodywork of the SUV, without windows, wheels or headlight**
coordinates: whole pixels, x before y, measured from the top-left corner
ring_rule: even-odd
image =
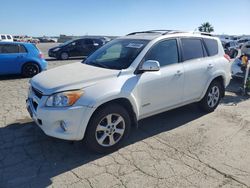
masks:
[[[140,120],[200,101],[211,81],[218,76],[223,77],[225,87],[229,84],[230,64],[223,57],[224,50],[217,38],[214,38],[219,44],[216,56],[169,65],[157,72],[134,73],[145,54],[156,42],[175,37],[208,36],[178,33],[152,38],[125,70],[110,70],[75,63],[38,74],[30,83],[36,90],[41,91],[43,96],[39,99],[34,90],[30,89],[27,101],[34,121],[47,135],[66,140],[81,140],[95,110],[113,99],[128,99],[136,119]],[[50,95],[76,89],[83,90],[84,95],[73,106],[45,105]],[[33,101],[38,104],[37,109],[34,109]],[[42,120],[42,124],[38,120]],[[61,121],[66,122],[66,131],[60,127]]]

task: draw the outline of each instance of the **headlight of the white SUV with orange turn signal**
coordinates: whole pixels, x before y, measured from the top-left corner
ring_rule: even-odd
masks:
[[[72,106],[83,95],[82,90],[65,91],[51,95],[47,101],[46,106],[51,107],[67,107]]]

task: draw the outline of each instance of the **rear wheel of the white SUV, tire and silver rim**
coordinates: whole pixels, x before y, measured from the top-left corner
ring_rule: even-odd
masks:
[[[218,81],[213,81],[199,103],[201,110],[208,113],[213,112],[220,103],[222,92],[222,84]]]

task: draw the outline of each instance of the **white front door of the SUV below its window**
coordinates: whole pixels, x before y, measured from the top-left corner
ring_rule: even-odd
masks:
[[[158,72],[141,75],[141,116],[182,103],[184,72],[182,63],[166,66]]]

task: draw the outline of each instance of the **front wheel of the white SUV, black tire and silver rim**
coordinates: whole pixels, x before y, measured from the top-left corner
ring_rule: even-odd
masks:
[[[86,146],[97,153],[113,152],[128,137],[130,127],[129,114],[121,105],[101,107],[89,121],[85,133]]]

